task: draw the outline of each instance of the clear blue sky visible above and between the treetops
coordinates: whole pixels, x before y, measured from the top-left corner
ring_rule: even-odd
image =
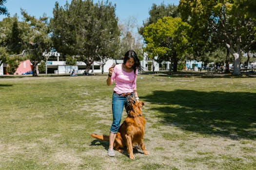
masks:
[[[43,13],[47,17],[53,17],[53,8],[55,2],[58,1],[60,6],[63,6],[66,1],[68,3],[71,0],[7,0],[4,4],[10,16],[14,16],[16,13],[21,19],[20,8],[24,9],[29,15],[35,16],[37,18],[41,17]],[[94,0],[97,2],[98,0]],[[101,1],[101,0],[100,0]],[[105,0],[104,0],[105,1]],[[116,15],[119,18],[119,21],[125,21],[129,17],[136,17],[139,26],[142,26],[143,21],[149,17],[149,10],[152,7],[152,4],[175,4],[178,5],[179,0],[109,0],[112,4],[117,5]],[[6,16],[0,15],[0,20]]]

